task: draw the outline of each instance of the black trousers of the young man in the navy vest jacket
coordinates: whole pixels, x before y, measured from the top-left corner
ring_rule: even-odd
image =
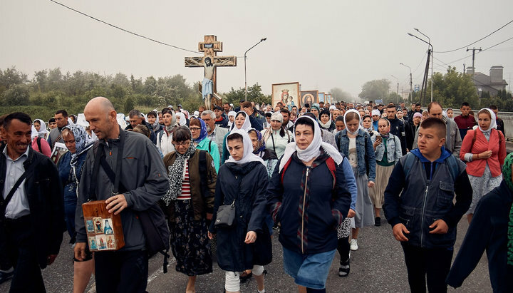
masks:
[[[412,293],[447,292],[445,278],[449,274],[452,248],[422,248],[401,242],[408,269],[408,283]]]

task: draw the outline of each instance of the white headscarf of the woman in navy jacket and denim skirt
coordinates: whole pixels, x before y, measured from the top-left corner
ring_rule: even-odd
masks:
[[[311,141],[310,145],[306,149],[301,150],[296,145],[296,134],[294,132],[294,141],[286,145],[285,153],[283,157],[281,157],[278,172],[281,172],[281,170],[283,170],[285,164],[289,161],[289,158],[291,158],[294,152],[297,152],[299,160],[309,161],[313,158],[317,158],[318,155],[321,155],[321,147],[326,151],[326,153],[328,153],[328,155],[331,158],[333,158],[337,165],[342,163],[343,157],[340,153],[338,153],[338,150],[329,143],[323,143],[321,138],[321,127],[319,127],[316,120],[309,117],[308,115],[301,116],[297,118],[296,123],[294,124],[294,129],[296,129],[298,121],[302,119],[310,119],[314,123],[314,139]]]

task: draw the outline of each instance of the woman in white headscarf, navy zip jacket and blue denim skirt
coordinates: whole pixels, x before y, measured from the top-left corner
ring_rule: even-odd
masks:
[[[337,248],[336,228],[348,215],[343,156],[323,143],[316,120],[302,116],[295,139],[285,149],[267,190],[268,205],[281,222],[279,242],[284,269],[299,291],[326,292],[326,279]]]

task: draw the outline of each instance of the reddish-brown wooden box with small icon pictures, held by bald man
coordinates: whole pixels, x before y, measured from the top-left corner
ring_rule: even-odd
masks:
[[[120,215],[110,214],[105,200],[82,205],[90,251],[119,250],[125,246]]]

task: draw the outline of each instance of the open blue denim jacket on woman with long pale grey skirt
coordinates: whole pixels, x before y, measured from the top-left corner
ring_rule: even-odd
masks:
[[[349,138],[347,129],[335,135],[338,151],[346,157],[349,155]],[[358,175],[368,173],[368,180],[375,181],[375,155],[371,135],[359,129],[356,135],[356,153],[358,155]],[[367,168],[369,169],[367,172]]]

